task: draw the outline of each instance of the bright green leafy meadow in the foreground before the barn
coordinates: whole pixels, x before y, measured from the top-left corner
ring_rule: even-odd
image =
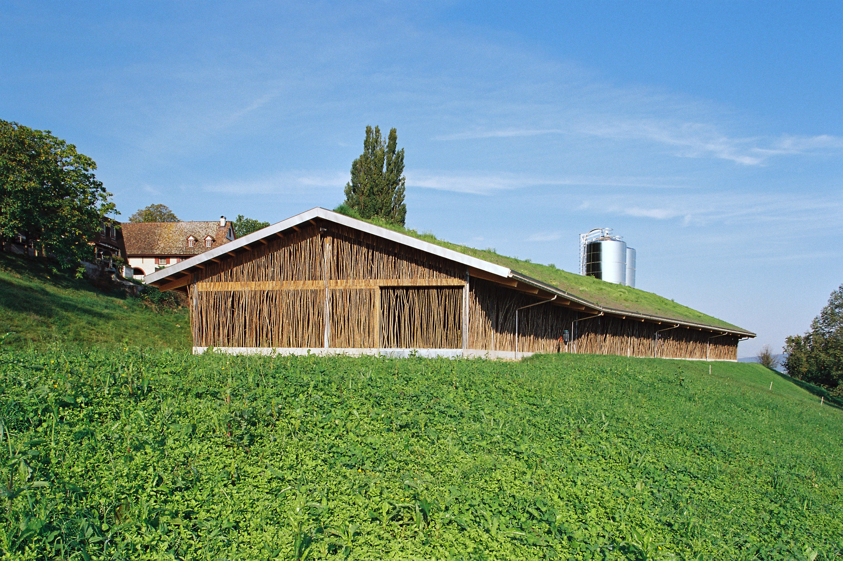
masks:
[[[840,558],[843,412],[759,365],[708,368],[0,351],[0,549]]]

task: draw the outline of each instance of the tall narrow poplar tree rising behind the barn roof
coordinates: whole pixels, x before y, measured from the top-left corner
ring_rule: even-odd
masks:
[[[362,218],[379,216],[386,222],[404,226],[404,148],[397,150],[398,132],[389,130],[384,142],[380,128],[366,127],[363,153],[352,163],[352,180],[346,184],[345,205]]]

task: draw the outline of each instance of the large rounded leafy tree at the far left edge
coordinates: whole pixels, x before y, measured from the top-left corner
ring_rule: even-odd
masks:
[[[96,168],[51,131],[0,120],[0,238],[23,234],[62,266],[90,259],[89,241],[117,213]]]

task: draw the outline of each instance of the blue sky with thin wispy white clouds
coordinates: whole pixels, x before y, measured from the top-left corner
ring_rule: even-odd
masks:
[[[843,282],[843,3],[0,3],[0,118],[77,145],[126,218],[343,198],[366,125],[407,226],[797,334]]]

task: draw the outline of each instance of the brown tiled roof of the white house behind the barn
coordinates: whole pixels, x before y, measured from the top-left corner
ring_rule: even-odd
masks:
[[[208,249],[218,248],[228,243],[226,236],[234,229],[231,221],[220,226],[219,221],[211,222],[124,222],[122,224],[123,243],[126,255],[198,255]],[[191,248],[187,238],[193,236],[196,243]],[[205,247],[205,238],[213,239],[210,248]]]

